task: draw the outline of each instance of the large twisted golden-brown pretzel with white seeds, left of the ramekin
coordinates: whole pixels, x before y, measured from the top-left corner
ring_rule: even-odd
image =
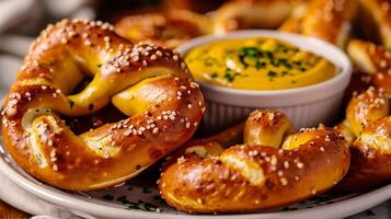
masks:
[[[122,183],[188,140],[205,111],[179,55],[130,44],[112,30],[69,20],[46,28],[5,101],[7,149],[50,185],[87,191]],[[87,77],[87,88],[71,94]],[[59,116],[88,115],[110,102],[128,118],[77,136]]]

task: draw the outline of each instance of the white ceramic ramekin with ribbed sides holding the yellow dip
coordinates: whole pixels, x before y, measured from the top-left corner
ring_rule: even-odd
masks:
[[[203,44],[228,38],[273,37],[288,42],[301,49],[312,51],[333,62],[338,73],[322,83],[280,91],[255,91],[222,88],[200,83],[207,111],[203,130],[215,132],[243,120],[254,108],[274,108],[284,112],[296,128],[313,127],[319,123],[330,124],[337,118],[350,74],[352,64],[337,47],[312,37],[277,31],[240,31],[225,36],[203,36],[181,45],[176,50],[186,56],[191,49]]]

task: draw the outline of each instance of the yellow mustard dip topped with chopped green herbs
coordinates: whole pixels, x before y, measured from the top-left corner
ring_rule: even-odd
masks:
[[[198,81],[244,90],[284,90],[326,81],[329,60],[273,38],[227,39],[192,49],[185,61]]]

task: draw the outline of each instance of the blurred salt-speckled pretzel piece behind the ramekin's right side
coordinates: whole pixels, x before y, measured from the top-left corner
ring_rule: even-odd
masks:
[[[355,12],[355,0],[313,0],[296,8],[279,30],[318,37],[343,48]]]

